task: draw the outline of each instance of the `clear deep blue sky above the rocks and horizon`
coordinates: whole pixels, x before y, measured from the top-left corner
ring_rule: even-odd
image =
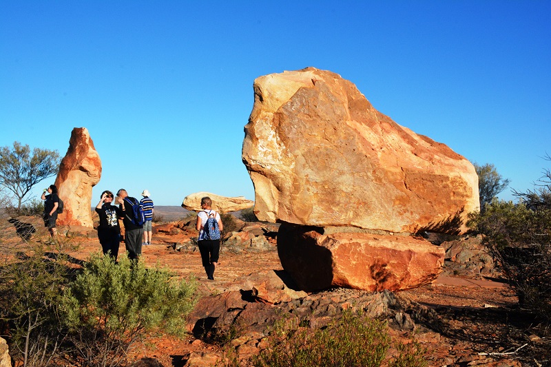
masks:
[[[253,199],[253,81],[313,66],[524,190],[551,167],[550,19],[551,1],[3,0],[0,146],[64,156],[87,127],[103,163],[92,205],[121,187],[156,205]]]

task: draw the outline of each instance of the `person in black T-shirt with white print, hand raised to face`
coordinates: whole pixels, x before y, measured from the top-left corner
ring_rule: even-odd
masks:
[[[115,261],[118,255],[118,246],[121,243],[121,226],[118,218],[123,218],[123,211],[112,205],[113,193],[109,190],[101,193],[101,199],[96,205],[99,216],[98,239],[103,255],[109,254]]]

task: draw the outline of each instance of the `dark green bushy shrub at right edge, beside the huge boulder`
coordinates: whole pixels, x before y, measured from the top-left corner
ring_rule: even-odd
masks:
[[[551,320],[551,210],[493,200],[468,223],[482,233],[519,303]]]

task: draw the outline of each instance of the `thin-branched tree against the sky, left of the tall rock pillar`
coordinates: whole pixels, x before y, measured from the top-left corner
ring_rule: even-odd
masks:
[[[27,193],[45,178],[59,171],[59,153],[14,142],[13,147],[0,147],[0,185],[11,191],[17,200],[17,209]]]

